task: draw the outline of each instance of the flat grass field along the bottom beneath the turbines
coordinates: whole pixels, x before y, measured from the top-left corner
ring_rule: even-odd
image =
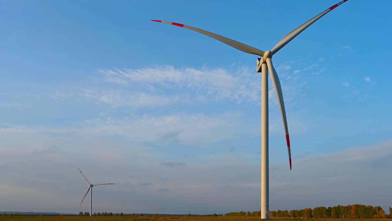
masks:
[[[281,217],[275,218],[281,219]],[[305,219],[292,219],[285,217],[286,220],[296,221]],[[208,217],[208,216],[191,216],[191,217],[165,217],[165,216],[113,216],[113,217],[102,217],[102,216],[0,216],[0,221],[243,221],[242,216],[232,217]],[[245,221],[256,221],[260,220],[260,217],[246,217]],[[308,220],[308,219],[307,219]],[[311,221],[365,221],[365,219],[310,219]],[[309,220],[309,221],[310,221]],[[366,219],[366,221],[388,221],[390,219]]]

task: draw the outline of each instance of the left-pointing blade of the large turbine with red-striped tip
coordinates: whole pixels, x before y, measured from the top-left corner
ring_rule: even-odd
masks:
[[[178,23],[175,23],[175,22],[165,22],[165,21],[161,21],[161,20],[152,20],[152,21],[153,22],[162,22],[162,23],[166,23],[166,24],[172,24],[172,25],[175,25],[175,26],[180,26],[182,28],[191,29],[192,31],[196,31],[196,32],[201,33],[203,35],[207,35],[209,37],[212,37],[213,39],[216,39],[216,40],[218,40],[220,42],[223,42],[223,43],[225,43],[225,44],[227,44],[229,46],[232,46],[233,48],[236,48],[236,49],[238,49],[240,51],[243,51],[245,53],[250,53],[250,54],[254,54],[254,55],[260,55],[261,57],[263,57],[263,55],[264,55],[264,52],[262,50],[259,50],[257,48],[253,48],[252,46],[249,46],[247,44],[243,44],[241,42],[234,41],[232,39],[229,39],[227,37],[223,37],[221,35],[214,34],[214,33],[209,32],[209,31],[204,31],[202,29],[194,28],[194,27],[191,27],[191,26],[183,25],[183,24],[178,24]]]

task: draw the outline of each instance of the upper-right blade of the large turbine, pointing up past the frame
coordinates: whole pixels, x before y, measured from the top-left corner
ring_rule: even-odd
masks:
[[[343,4],[344,2],[347,2],[347,1],[348,0],[343,0],[343,1],[339,2],[336,5],[334,5],[332,7],[329,7],[327,10],[323,11],[322,13],[317,15],[316,17],[314,17],[314,18],[310,19],[309,21],[305,22],[305,24],[303,24],[303,25],[299,26],[298,28],[294,29],[294,31],[292,31],[288,35],[286,35],[282,40],[280,40],[278,42],[278,44],[275,45],[274,48],[272,48],[272,50],[271,50],[272,54],[275,54],[276,52],[278,52],[287,43],[289,43],[291,40],[293,40],[295,37],[297,37],[297,35],[299,35],[299,33],[301,33],[303,30],[308,28],[311,24],[313,24],[319,18],[323,17],[325,14],[327,14],[330,11],[332,11],[332,9],[338,7],[339,5],[341,5],[341,4]]]

